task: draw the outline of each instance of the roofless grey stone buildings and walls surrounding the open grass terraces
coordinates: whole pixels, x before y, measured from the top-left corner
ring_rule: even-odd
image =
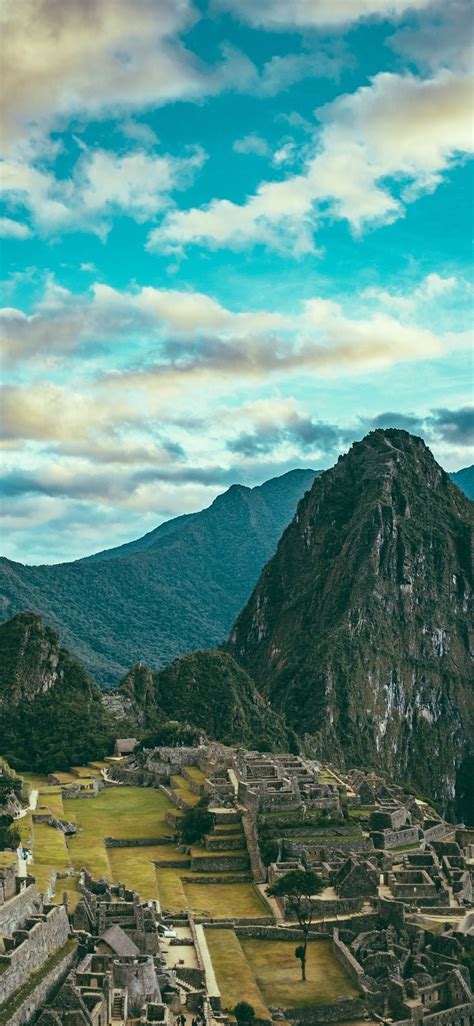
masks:
[[[359,997],[314,1009],[310,1018],[284,1010],[291,1026],[362,1018],[391,1026],[474,1026],[473,830],[362,771],[216,743],[126,747],[88,797],[103,784],[134,783],[161,788],[181,811],[186,795],[172,781],[182,774],[207,796],[218,823],[241,824],[238,843],[246,845],[244,869],[255,885],[265,889],[292,869],[311,868],[320,877],[310,938],[330,939]],[[199,784],[191,767],[199,767]],[[208,870],[214,859],[218,872],[219,835],[204,843],[216,845],[203,851],[203,862]],[[10,855],[0,862],[0,1001],[7,1010],[3,1019],[0,1010],[0,1026],[151,1026],[173,1023],[183,1008],[209,1026],[230,1022],[205,944],[205,917],[195,922],[188,912],[164,920],[156,902],[85,871],[74,910],[67,895],[50,905],[32,877],[17,875]],[[191,868],[198,863],[194,851]],[[268,939],[299,936],[284,899],[256,929]],[[11,1012],[23,989],[25,999]],[[281,1018],[278,1010],[275,1019]]]

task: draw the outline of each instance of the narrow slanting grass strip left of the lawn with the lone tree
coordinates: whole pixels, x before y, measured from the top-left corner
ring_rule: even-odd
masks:
[[[234,931],[206,930],[205,937],[223,1008],[232,1012],[238,1001],[248,1001],[259,1019],[270,1021],[272,1017]]]

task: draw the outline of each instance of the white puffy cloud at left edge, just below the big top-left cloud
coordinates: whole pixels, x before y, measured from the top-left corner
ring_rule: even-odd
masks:
[[[201,147],[183,157],[143,150],[124,155],[86,150],[67,179],[6,160],[0,189],[7,203],[29,210],[41,233],[81,228],[104,235],[113,213],[122,212],[139,222],[155,218],[171,204],[175,190],[191,184],[205,158]]]

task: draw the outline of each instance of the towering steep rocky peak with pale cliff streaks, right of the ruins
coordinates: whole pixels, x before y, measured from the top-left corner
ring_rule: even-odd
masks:
[[[228,644],[316,755],[445,803],[474,741],[472,526],[421,438],[373,431],[316,478]]]

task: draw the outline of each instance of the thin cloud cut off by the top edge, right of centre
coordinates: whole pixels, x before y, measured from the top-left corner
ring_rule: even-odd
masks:
[[[432,0],[214,0],[218,9],[231,11],[255,28],[275,31],[341,26],[366,17],[398,19],[408,10],[427,7]]]

